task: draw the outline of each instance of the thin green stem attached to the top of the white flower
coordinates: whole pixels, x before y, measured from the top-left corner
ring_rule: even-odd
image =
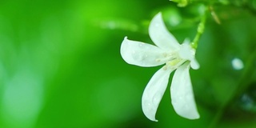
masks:
[[[197,30],[198,33],[195,35],[193,42],[191,42],[191,46],[195,50],[198,48],[199,39],[201,38],[202,33],[205,30],[205,24],[206,24],[206,12],[205,12],[205,14],[203,14],[201,21],[198,24],[198,30]]]

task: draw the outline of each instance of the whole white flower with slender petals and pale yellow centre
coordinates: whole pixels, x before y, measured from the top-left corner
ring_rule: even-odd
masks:
[[[199,118],[189,74],[190,66],[195,70],[199,68],[194,58],[195,50],[186,41],[182,45],[178,43],[166,29],[161,13],[150,22],[149,33],[156,46],[127,38],[124,38],[121,46],[122,58],[131,65],[149,67],[165,64],[153,75],[143,92],[144,114],[150,120],[158,121],[155,114],[159,102],[166,90],[170,73],[177,69],[170,86],[174,110],[183,118]]]

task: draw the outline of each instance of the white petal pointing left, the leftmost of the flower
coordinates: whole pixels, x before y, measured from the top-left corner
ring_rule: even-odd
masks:
[[[144,42],[124,38],[120,51],[122,58],[131,65],[159,66],[165,63],[159,61],[159,59],[164,58],[165,51]]]

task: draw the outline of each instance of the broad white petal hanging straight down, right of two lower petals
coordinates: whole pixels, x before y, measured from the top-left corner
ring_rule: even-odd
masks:
[[[194,102],[194,93],[190,80],[189,63],[178,67],[170,86],[171,102],[176,113],[183,118],[199,118]]]

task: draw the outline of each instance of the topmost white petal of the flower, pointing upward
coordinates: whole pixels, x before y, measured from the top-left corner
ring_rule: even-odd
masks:
[[[150,22],[149,33],[154,44],[160,48],[165,50],[177,50],[179,48],[177,39],[166,29],[161,13],[155,15]]]

